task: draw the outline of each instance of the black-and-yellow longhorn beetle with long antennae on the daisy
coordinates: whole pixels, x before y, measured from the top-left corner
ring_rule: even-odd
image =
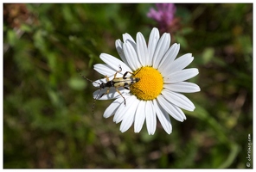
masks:
[[[121,65],[119,65],[118,67],[119,67],[120,70],[117,71],[114,74],[114,77],[111,81],[109,80],[109,77],[105,76],[106,77],[106,83],[98,83],[99,84],[99,92],[100,92],[101,89],[105,89],[105,88],[108,88],[108,89],[106,90],[106,93],[103,93],[100,96],[99,96],[99,93],[98,93],[98,95],[94,99],[94,101],[93,101],[93,113],[94,113],[95,101],[98,99],[98,97],[101,98],[103,95],[108,95],[110,88],[115,88],[116,91],[118,92],[118,94],[121,95],[123,97],[124,101],[125,101],[125,97],[120,93],[118,88],[124,87],[125,89],[130,89],[129,87],[132,84],[138,83],[138,81],[140,80],[140,78],[138,78],[138,77],[126,77],[126,75],[128,73],[130,73],[131,76],[134,76],[134,74],[131,73],[130,71],[126,71],[125,74],[123,75],[123,77],[117,77],[118,73],[120,73],[122,71]],[[77,69],[77,71],[79,71],[79,70]],[[80,74],[80,76],[84,77],[87,81],[90,81],[91,83],[96,83],[95,81],[92,81],[92,80],[88,79],[87,77],[85,77],[81,74]],[[137,89],[137,88],[135,88],[135,89]],[[140,89],[138,89],[138,90],[140,90]],[[140,90],[140,91],[142,91],[142,90]],[[125,101],[125,106],[126,106],[126,101]]]

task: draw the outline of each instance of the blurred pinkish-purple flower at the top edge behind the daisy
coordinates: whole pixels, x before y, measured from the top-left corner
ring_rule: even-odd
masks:
[[[157,10],[150,8],[148,17],[156,20],[161,28],[168,28],[175,18],[176,6],[174,3],[157,3]]]

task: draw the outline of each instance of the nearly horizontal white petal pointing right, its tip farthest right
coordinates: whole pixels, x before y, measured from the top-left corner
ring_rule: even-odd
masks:
[[[180,93],[195,93],[200,91],[200,87],[195,83],[180,82],[180,83],[166,83],[163,84],[163,88],[169,89],[171,91]]]

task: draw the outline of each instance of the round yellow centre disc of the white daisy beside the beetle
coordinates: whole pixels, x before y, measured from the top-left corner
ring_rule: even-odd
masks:
[[[138,83],[131,85],[131,93],[136,95],[138,99],[150,101],[157,98],[163,89],[162,74],[150,66],[139,68],[133,72],[133,77],[138,77]]]

